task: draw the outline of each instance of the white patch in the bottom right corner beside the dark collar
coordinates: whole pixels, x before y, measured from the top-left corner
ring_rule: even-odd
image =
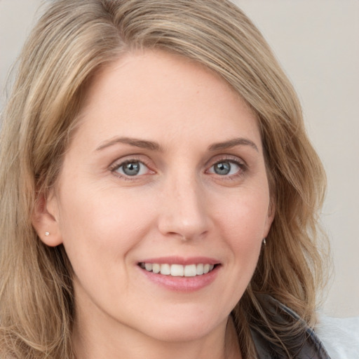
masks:
[[[314,328],[330,357],[335,359],[359,358],[359,316],[331,318],[318,315]]]

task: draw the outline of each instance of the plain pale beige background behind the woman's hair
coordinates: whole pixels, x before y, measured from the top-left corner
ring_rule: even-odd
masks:
[[[39,0],[0,0],[0,108],[6,74]],[[334,279],[324,311],[359,316],[359,1],[236,0],[262,30],[302,100],[328,175],[323,222]]]

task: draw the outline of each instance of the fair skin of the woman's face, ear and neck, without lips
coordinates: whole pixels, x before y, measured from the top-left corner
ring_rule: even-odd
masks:
[[[229,313],[273,220],[255,114],[219,76],[160,51],[105,67],[86,98],[34,219],[74,268],[78,358],[241,358]],[[215,279],[176,291],[138,265],[174,255],[215,258]]]

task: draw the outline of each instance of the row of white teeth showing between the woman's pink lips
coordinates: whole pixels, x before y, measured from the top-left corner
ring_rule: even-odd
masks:
[[[217,264],[188,264],[186,266],[182,264],[158,264],[158,263],[139,263],[140,267],[146,271],[162,274],[163,276],[172,276],[172,277],[196,277],[203,276],[207,274],[215,267]]]

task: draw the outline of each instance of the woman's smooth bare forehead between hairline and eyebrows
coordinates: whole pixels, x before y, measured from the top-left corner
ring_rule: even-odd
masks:
[[[203,65],[158,50],[128,53],[100,69],[80,118],[83,130],[103,137],[157,134],[175,140],[191,129],[213,142],[233,137],[233,131],[260,142],[255,114],[226,81]]]

